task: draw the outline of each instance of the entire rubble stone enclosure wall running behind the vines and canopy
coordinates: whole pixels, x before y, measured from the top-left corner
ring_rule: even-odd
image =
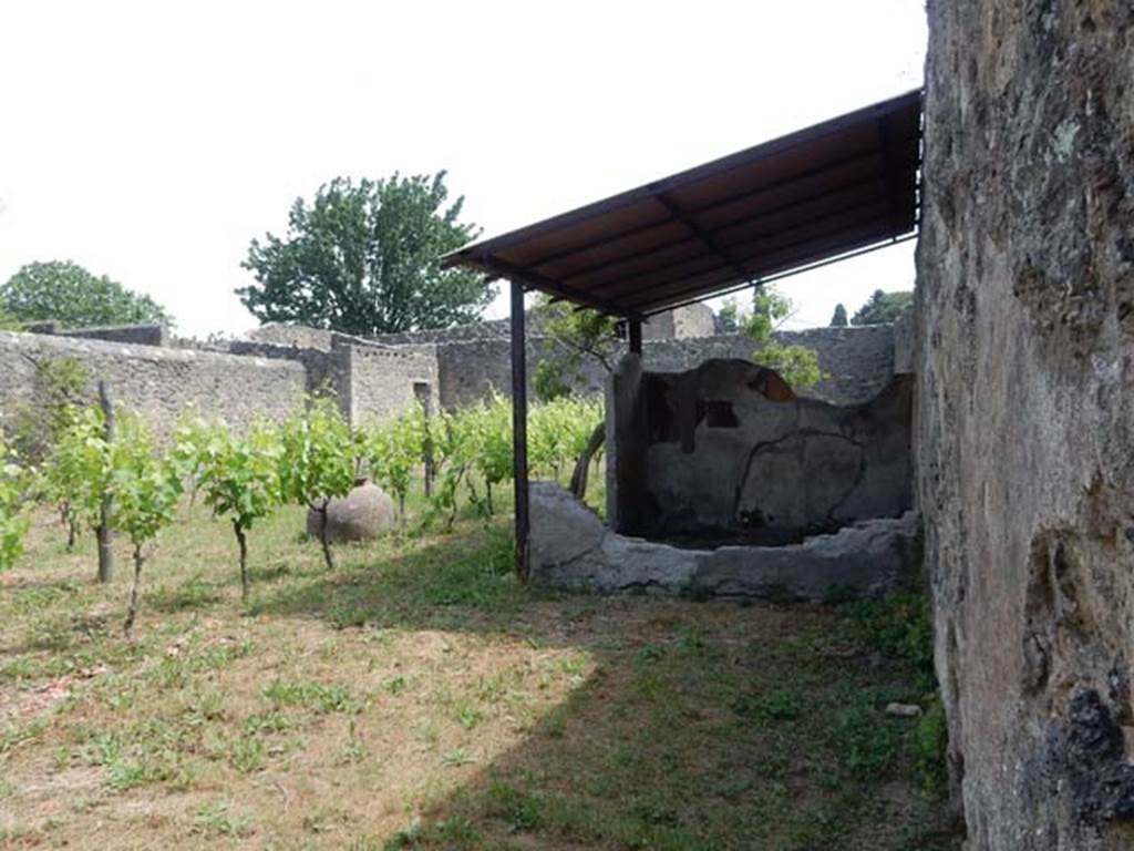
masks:
[[[479,330],[454,329],[448,332],[451,338],[446,332],[411,335],[407,339],[416,343],[399,345],[278,325],[260,328],[248,339],[208,345],[176,340],[152,327],[95,329],[91,339],[77,336],[85,332],[64,336],[56,329],[41,330],[5,335],[0,405],[34,395],[34,360],[75,357],[92,379],[107,379],[122,402],[145,413],[159,433],[168,432],[189,403],[238,424],[257,414],[280,418],[303,394],[322,393],[336,398],[353,423],[362,423],[396,415],[414,401],[428,402],[437,411],[460,407],[493,391],[508,395],[511,382],[507,325],[500,322],[485,322]],[[891,326],[819,328],[780,337],[818,352],[827,378],[809,390],[815,398],[865,402],[895,373]],[[532,335],[530,380],[545,352],[545,339]],[[646,339],[643,360],[648,369],[678,372],[708,359],[746,360],[751,354],[747,338],[717,335]],[[607,371],[596,361],[583,364],[586,390],[601,393],[606,379]]]

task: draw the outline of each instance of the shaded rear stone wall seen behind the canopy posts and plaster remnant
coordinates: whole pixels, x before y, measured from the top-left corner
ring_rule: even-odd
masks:
[[[807,395],[833,404],[856,404],[878,395],[895,374],[895,328],[889,325],[814,328],[784,331],[787,344],[815,349],[819,365],[829,378],[807,390]],[[752,356],[752,340],[742,335],[645,340],[642,360],[646,369],[680,372],[710,359]],[[620,356],[621,352],[617,356]],[[616,356],[616,360],[617,360]],[[438,343],[440,401],[446,407],[459,407],[483,398],[494,388],[508,395],[511,387],[511,354],[506,337],[488,337],[456,343]],[[543,357],[543,338],[527,339],[528,378]],[[908,369],[906,369],[908,371]],[[602,393],[607,374],[592,360],[584,364],[586,389]],[[531,388],[530,388],[531,389]]]

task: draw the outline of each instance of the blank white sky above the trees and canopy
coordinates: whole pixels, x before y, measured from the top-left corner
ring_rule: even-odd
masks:
[[[238,332],[249,239],[336,175],[448,169],[491,235],[913,89],[924,45],[921,0],[6,2],[0,280],[70,259]],[[907,243],[781,289],[826,325],[912,285]]]

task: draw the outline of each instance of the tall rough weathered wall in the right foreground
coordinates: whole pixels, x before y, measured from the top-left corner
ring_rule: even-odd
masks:
[[[917,470],[971,851],[1134,848],[1134,6],[929,5]]]

